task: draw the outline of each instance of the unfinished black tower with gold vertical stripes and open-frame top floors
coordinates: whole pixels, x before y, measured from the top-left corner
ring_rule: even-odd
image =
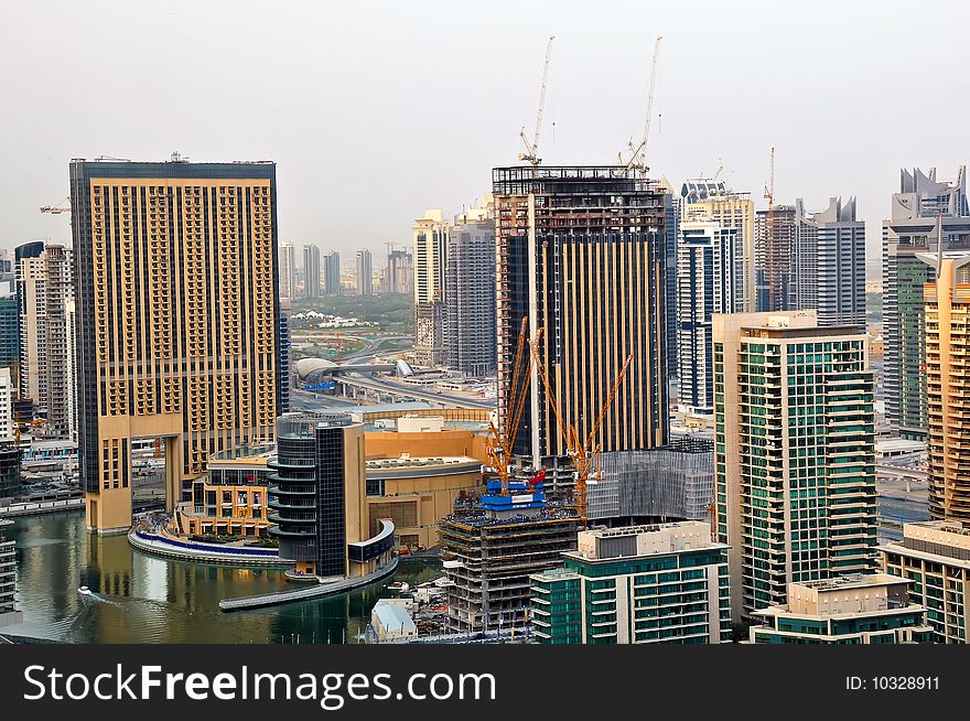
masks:
[[[603,463],[667,442],[667,249],[664,193],[623,166],[493,170],[496,207],[498,415],[524,318],[563,415],[584,437],[630,354],[597,443]],[[551,491],[572,485],[545,387],[534,370],[516,455],[549,466]]]

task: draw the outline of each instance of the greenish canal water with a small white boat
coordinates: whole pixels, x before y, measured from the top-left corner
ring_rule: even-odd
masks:
[[[146,556],[126,536],[87,532],[84,512],[18,518],[17,601],[11,634],[64,643],[359,643],[387,585],[440,575],[440,563],[402,560],[394,578],[342,595],[236,613],[220,599],[292,589],[281,570],[240,569]],[[94,593],[83,595],[87,585]]]

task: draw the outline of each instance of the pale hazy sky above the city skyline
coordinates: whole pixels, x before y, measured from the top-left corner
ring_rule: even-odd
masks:
[[[870,255],[901,166],[967,161],[970,3],[13,2],[0,10],[0,247],[69,243],[72,158],[278,163],[280,239],[349,254],[461,211],[531,133],[556,35],[540,157],[712,174],[758,207],[859,196]],[[554,132],[553,126],[554,122]]]

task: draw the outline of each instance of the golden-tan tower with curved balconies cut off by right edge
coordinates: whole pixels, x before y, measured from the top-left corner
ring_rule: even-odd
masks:
[[[970,249],[920,252],[925,286],[925,370],[929,516],[970,521]]]

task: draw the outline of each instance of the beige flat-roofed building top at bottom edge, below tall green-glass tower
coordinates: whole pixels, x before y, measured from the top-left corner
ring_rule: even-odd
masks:
[[[930,644],[926,609],[910,603],[906,579],[852,574],[788,587],[788,603],[753,615],[753,644]]]

